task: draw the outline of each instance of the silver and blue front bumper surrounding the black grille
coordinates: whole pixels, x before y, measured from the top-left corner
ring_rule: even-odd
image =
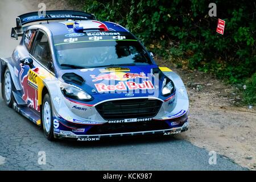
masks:
[[[175,82],[177,91],[174,96],[171,96],[167,100],[161,100],[156,96],[133,98],[127,98],[124,96],[104,100],[104,102],[127,99],[135,100],[137,98],[161,100],[163,104],[155,117],[135,118],[145,119],[143,122],[145,121],[145,123],[148,124],[146,128],[141,126],[141,121],[138,123],[137,121],[123,121],[134,122],[134,125],[123,123],[123,127],[121,127],[115,121],[113,121],[115,122],[113,125],[110,125],[109,122],[112,122],[112,119],[104,119],[96,109],[96,107],[102,104],[103,101],[98,102],[97,104],[89,105],[88,103],[80,103],[75,100],[70,100],[63,96],[60,89],[56,90],[59,82],[47,82],[47,85],[50,88],[49,90],[52,91],[51,99],[53,107],[53,119],[56,122],[54,123],[56,126],[54,129],[55,138],[99,140],[100,138],[104,137],[123,137],[146,134],[171,135],[186,131],[188,128],[187,117],[189,112],[188,95],[179,76],[173,72],[168,72],[168,77]],[[131,120],[133,120],[133,118]],[[152,125],[148,121],[152,122]],[[118,130],[115,130],[115,127],[118,127]]]

